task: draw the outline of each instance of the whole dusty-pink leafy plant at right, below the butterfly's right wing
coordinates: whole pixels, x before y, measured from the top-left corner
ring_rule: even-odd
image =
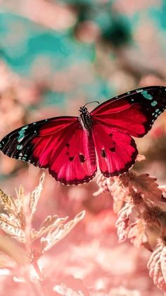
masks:
[[[129,238],[135,247],[154,250],[148,269],[155,285],[166,292],[166,206],[162,196],[166,190],[156,180],[148,173],[137,174],[132,170],[109,179],[98,175],[100,190],[96,194],[110,190],[120,242]]]

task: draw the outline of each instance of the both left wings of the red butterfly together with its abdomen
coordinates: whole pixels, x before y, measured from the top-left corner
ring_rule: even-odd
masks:
[[[49,118],[25,125],[0,142],[4,154],[30,162],[65,185],[89,182],[96,174],[96,154],[91,133],[77,117]]]

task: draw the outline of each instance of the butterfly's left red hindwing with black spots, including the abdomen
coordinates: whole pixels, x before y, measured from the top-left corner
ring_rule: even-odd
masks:
[[[96,175],[96,169],[93,138],[82,128],[72,133],[58,157],[53,156],[49,163],[49,173],[65,185],[89,182]]]

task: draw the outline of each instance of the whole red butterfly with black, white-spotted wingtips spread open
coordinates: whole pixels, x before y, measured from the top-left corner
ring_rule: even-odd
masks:
[[[86,104],[87,105],[87,104]],[[6,135],[0,150],[49,173],[60,183],[88,183],[99,167],[107,178],[129,171],[143,137],[166,108],[166,88],[143,87],[109,99],[91,113],[60,116],[24,125]]]

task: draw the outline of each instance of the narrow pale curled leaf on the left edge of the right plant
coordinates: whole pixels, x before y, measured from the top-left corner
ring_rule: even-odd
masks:
[[[129,216],[132,214],[132,210],[134,208],[134,204],[129,204],[128,202],[125,206],[119,211],[118,218],[115,223],[117,227],[117,235],[119,237],[120,242],[124,242],[127,238],[127,234],[129,232]]]

